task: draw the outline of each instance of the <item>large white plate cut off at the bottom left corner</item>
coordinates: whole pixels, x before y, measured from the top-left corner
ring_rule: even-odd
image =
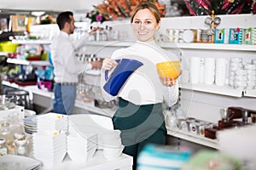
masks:
[[[41,166],[41,162],[25,156],[0,156],[1,170],[30,170]]]

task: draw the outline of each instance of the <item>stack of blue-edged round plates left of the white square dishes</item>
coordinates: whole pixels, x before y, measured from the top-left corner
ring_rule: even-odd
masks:
[[[38,123],[37,123],[37,115],[27,116],[23,119],[24,129],[26,133],[36,133],[38,132]]]

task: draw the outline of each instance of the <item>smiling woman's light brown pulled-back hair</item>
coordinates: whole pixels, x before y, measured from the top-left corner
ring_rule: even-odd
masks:
[[[136,8],[133,9],[132,14],[131,14],[131,23],[133,22],[134,16],[137,14],[137,12],[141,9],[148,8],[148,10],[154,14],[154,18],[156,20],[156,23],[160,22],[160,12],[158,8],[154,5],[154,3],[149,3],[149,2],[143,2],[139,3]]]

